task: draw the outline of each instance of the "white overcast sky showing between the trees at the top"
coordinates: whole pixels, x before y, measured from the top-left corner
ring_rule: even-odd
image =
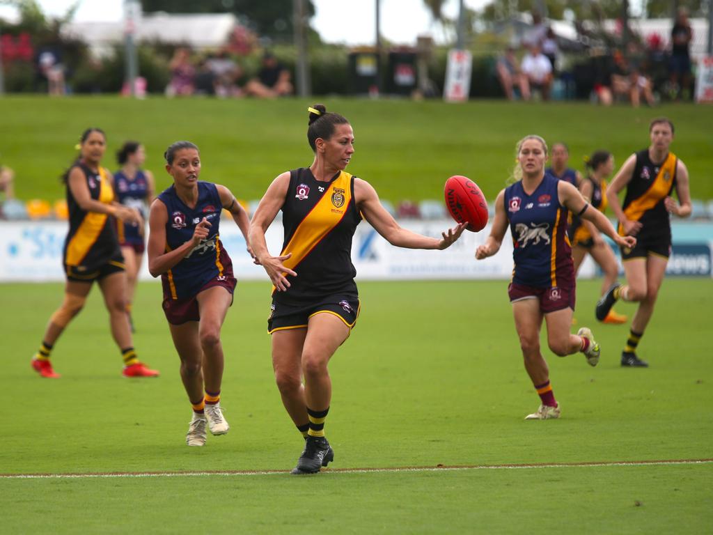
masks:
[[[51,16],[66,14],[73,0],[38,0],[43,11]],[[330,43],[350,45],[372,44],[376,34],[374,21],[375,0],[312,0],[315,14],[312,27]],[[465,0],[472,9],[481,9],[488,0]],[[118,21],[123,14],[123,0],[83,0],[76,21]],[[0,16],[14,12],[14,8],[0,6]],[[444,12],[455,17],[458,0],[446,0]],[[381,0],[381,35],[396,44],[415,44],[416,36],[436,34],[431,16],[423,0]]]

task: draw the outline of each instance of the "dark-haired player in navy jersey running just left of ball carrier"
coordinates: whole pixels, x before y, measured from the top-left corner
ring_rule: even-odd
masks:
[[[183,387],[193,405],[186,443],[203,446],[206,424],[216,435],[230,429],[220,408],[224,366],[220,327],[232,305],[235,277],[218,234],[220,213],[230,213],[246,242],[250,221],[225,186],[198,180],[197,146],[177,141],[164,156],[173,185],[151,204],[148,270],[154,277],[161,275],[163,312],[180,357]]]

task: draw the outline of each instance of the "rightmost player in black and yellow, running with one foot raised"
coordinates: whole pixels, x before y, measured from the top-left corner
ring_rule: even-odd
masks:
[[[597,320],[602,321],[618,299],[639,303],[622,351],[621,365],[625,367],[648,366],[637,357],[636,347],[654,313],[671,255],[669,214],[687,218],[692,208],[686,165],[669,151],[673,123],[664,117],[654,119],[649,136],[651,145],[627,158],[607,190],[607,200],[619,220],[619,233],[637,238],[636,247],[622,247],[627,284],[612,285],[596,309]],[[624,188],[622,206],[617,194]],[[674,188],[678,203],[671,196]]]

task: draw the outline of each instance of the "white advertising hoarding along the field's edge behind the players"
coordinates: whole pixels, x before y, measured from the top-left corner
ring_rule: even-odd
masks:
[[[416,233],[440,237],[454,225],[452,220],[401,220],[404,228]],[[65,222],[0,223],[0,282],[62,281],[62,248],[67,233]],[[501,251],[492,258],[476,261],[475,250],[490,233],[490,225],[479,233],[466,230],[456,243],[443,251],[394,247],[371,226],[362,222],[352,244],[352,260],[357,280],[425,279],[509,279],[513,269],[513,245],[509,233]],[[229,220],[221,225],[220,239],[232,258],[235,275],[240,280],[264,280],[265,270],[254,265],[247,254],[245,240]],[[282,248],[282,223],[278,220],[267,230],[267,246],[273,255]],[[297,267],[299,272],[299,267]],[[580,276],[594,275],[591,260],[580,269]],[[144,255],[141,280],[153,280]]]

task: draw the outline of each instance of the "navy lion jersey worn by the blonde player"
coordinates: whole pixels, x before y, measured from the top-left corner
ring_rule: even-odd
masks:
[[[532,195],[522,181],[505,190],[505,210],[513,236],[513,282],[535,287],[574,284],[568,210],[560,205],[559,180],[545,173]]]

